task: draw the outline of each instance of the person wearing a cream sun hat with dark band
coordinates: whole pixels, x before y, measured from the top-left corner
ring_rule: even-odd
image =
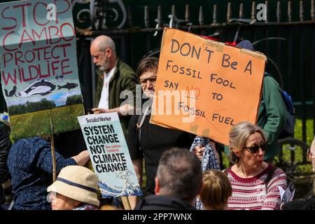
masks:
[[[64,167],[56,181],[47,188],[52,210],[96,210],[98,178],[90,169]]]

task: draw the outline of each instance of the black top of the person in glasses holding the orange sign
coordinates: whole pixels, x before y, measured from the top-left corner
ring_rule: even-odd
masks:
[[[127,146],[132,160],[144,158],[146,169],[146,191],[154,194],[155,176],[162,153],[172,147],[190,148],[194,135],[181,130],[169,129],[149,123],[146,116],[141,127],[141,137],[137,131],[139,115],[133,115],[128,127]]]

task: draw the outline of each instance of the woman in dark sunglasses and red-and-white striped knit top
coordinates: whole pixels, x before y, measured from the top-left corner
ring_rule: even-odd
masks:
[[[279,188],[286,189],[286,174],[264,162],[267,146],[267,138],[257,125],[242,122],[230,130],[234,165],[225,169],[232,184],[229,209],[280,209]]]

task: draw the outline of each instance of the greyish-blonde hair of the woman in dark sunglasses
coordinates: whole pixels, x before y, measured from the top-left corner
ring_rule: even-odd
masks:
[[[251,136],[258,132],[264,141],[267,141],[265,133],[262,131],[261,127],[254,125],[249,122],[241,122],[234,125],[230,130],[230,160],[233,164],[239,162],[239,158],[234,152],[240,152],[246,147],[246,141]]]

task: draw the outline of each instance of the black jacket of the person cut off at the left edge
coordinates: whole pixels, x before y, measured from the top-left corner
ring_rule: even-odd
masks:
[[[8,153],[11,148],[11,141],[9,137],[9,128],[6,125],[0,127],[0,204],[6,202],[6,197],[3,192],[1,183],[4,183],[8,178]]]

